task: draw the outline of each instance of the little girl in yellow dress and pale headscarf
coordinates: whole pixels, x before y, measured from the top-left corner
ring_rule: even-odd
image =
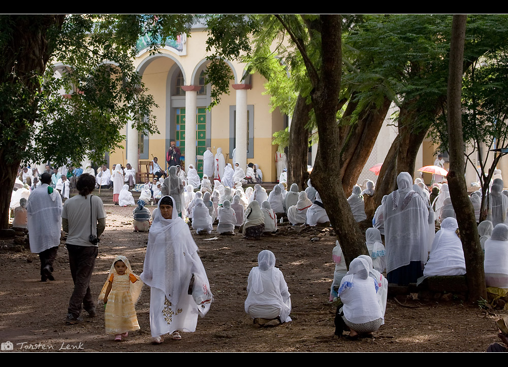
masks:
[[[139,330],[134,304],[141,294],[143,282],[132,272],[125,256],[116,256],[109,271],[109,278],[102,288],[99,301],[104,300],[106,332],[121,341],[128,331]]]

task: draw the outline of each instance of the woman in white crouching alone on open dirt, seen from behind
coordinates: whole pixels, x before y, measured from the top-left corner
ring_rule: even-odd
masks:
[[[282,272],[275,268],[273,252],[261,251],[258,265],[252,268],[247,279],[245,312],[255,323],[258,321],[266,326],[291,321],[291,294]]]

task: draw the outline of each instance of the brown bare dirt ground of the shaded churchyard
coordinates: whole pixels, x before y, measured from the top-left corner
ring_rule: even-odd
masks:
[[[150,208],[151,210],[153,207]],[[132,230],[133,208],[106,206],[107,227],[99,244],[99,257],[91,280],[98,296],[116,255],[129,258],[133,271],[143,270],[147,233]],[[352,342],[333,337],[335,307],[328,302],[334,264],[335,239],[329,228],[282,225],[278,235],[244,240],[212,235],[195,236],[215,300],[196,332],[181,341],[150,344],[150,290],[144,286],[136,305],[141,330],[122,342],[104,332],[104,309],[79,325],[65,325],[73,282],[67,251],[58,250],[54,282],[40,282],[37,254],[0,252],[0,341],[13,343],[14,351],[84,352],[441,352],[485,351],[497,341],[497,317],[478,306],[438,304],[408,299],[400,306],[389,298],[386,323],[372,340]],[[333,233],[333,231],[332,231]],[[216,240],[207,241],[213,237]],[[320,237],[321,241],[310,239]],[[257,266],[258,253],[273,251],[288,283],[293,321],[258,329],[245,314],[247,276]],[[414,295],[415,296],[415,295]],[[168,338],[169,339],[169,338]]]

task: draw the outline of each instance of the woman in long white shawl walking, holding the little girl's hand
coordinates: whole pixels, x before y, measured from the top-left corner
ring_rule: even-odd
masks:
[[[167,333],[179,340],[179,331],[194,332],[198,314],[204,316],[208,312],[209,303],[198,306],[193,295],[188,294],[193,275],[194,289],[206,286],[209,302],[212,299],[198,246],[188,225],[178,218],[174,203],[171,196],[164,196],[159,202],[140,275],[150,287],[150,331],[156,344],[162,343],[162,336]]]

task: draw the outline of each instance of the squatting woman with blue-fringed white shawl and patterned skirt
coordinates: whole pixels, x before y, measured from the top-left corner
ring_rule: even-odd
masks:
[[[340,317],[336,317],[335,335],[342,335],[342,331],[349,328],[346,339],[356,340],[360,334],[372,334],[382,325],[378,289],[377,281],[369,276],[367,260],[357,257],[351,261],[338,291],[343,306],[338,310]]]

